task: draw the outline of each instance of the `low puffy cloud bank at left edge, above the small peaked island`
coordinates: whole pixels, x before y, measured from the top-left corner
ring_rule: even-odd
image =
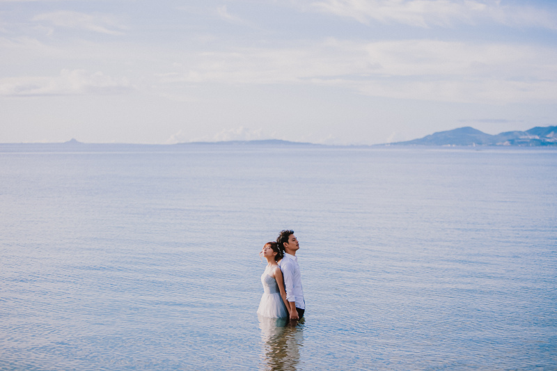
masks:
[[[113,79],[102,72],[62,70],[57,77],[8,77],[0,79],[0,95],[29,97],[38,95],[107,95],[128,93],[126,79]]]

